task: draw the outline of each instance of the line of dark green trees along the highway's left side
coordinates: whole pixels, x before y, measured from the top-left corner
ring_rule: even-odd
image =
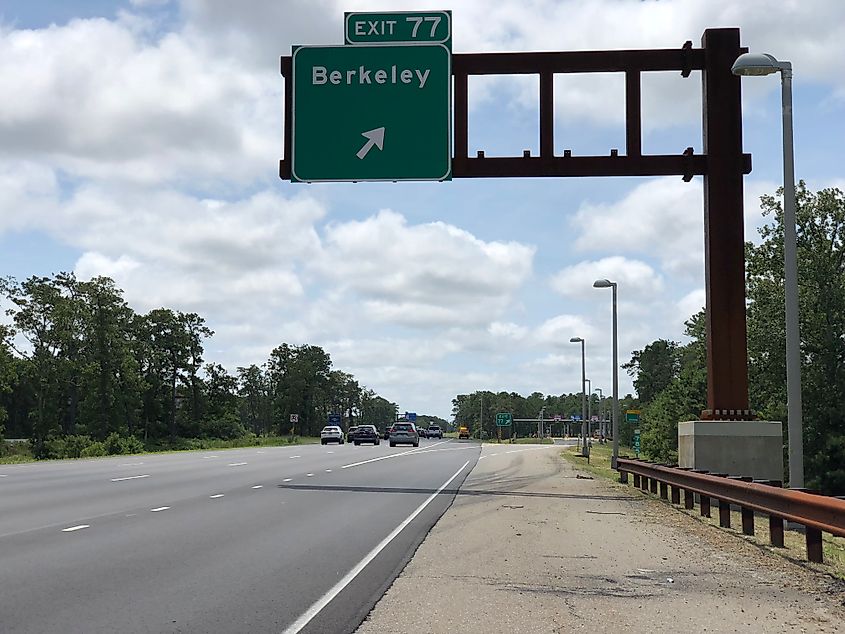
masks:
[[[314,436],[330,413],[344,425],[395,419],[395,403],[333,369],[319,346],[283,343],[231,374],[205,360],[214,333],[202,316],[138,314],[108,277],[3,278],[0,296],[11,318],[0,325],[0,440],[29,438],[36,457],[116,439]]]

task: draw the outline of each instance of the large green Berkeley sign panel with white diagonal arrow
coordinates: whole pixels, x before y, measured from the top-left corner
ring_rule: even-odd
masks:
[[[448,180],[452,56],[427,46],[293,50],[291,180]]]

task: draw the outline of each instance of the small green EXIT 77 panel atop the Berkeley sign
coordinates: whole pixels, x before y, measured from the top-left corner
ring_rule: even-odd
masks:
[[[347,44],[445,44],[452,47],[451,11],[345,13]]]

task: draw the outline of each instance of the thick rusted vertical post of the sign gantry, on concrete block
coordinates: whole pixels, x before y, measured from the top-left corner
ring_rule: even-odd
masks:
[[[740,78],[731,73],[742,53],[739,29],[707,29],[701,44],[708,407],[702,418],[742,418],[748,412],[742,103]]]

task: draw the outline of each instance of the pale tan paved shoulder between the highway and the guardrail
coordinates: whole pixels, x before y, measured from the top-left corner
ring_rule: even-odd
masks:
[[[524,449],[485,447],[361,634],[845,631],[800,566]]]

